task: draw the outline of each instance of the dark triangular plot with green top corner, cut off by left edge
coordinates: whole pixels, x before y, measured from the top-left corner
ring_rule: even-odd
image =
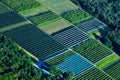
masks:
[[[0,28],[26,21],[24,18],[19,16],[17,13],[11,11],[7,6],[2,3],[0,3],[0,8],[0,11],[2,13],[0,14]]]

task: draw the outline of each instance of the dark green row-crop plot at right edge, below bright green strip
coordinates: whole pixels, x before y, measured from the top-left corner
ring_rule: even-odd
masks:
[[[105,72],[115,78],[115,80],[120,80],[120,61],[106,69]]]

